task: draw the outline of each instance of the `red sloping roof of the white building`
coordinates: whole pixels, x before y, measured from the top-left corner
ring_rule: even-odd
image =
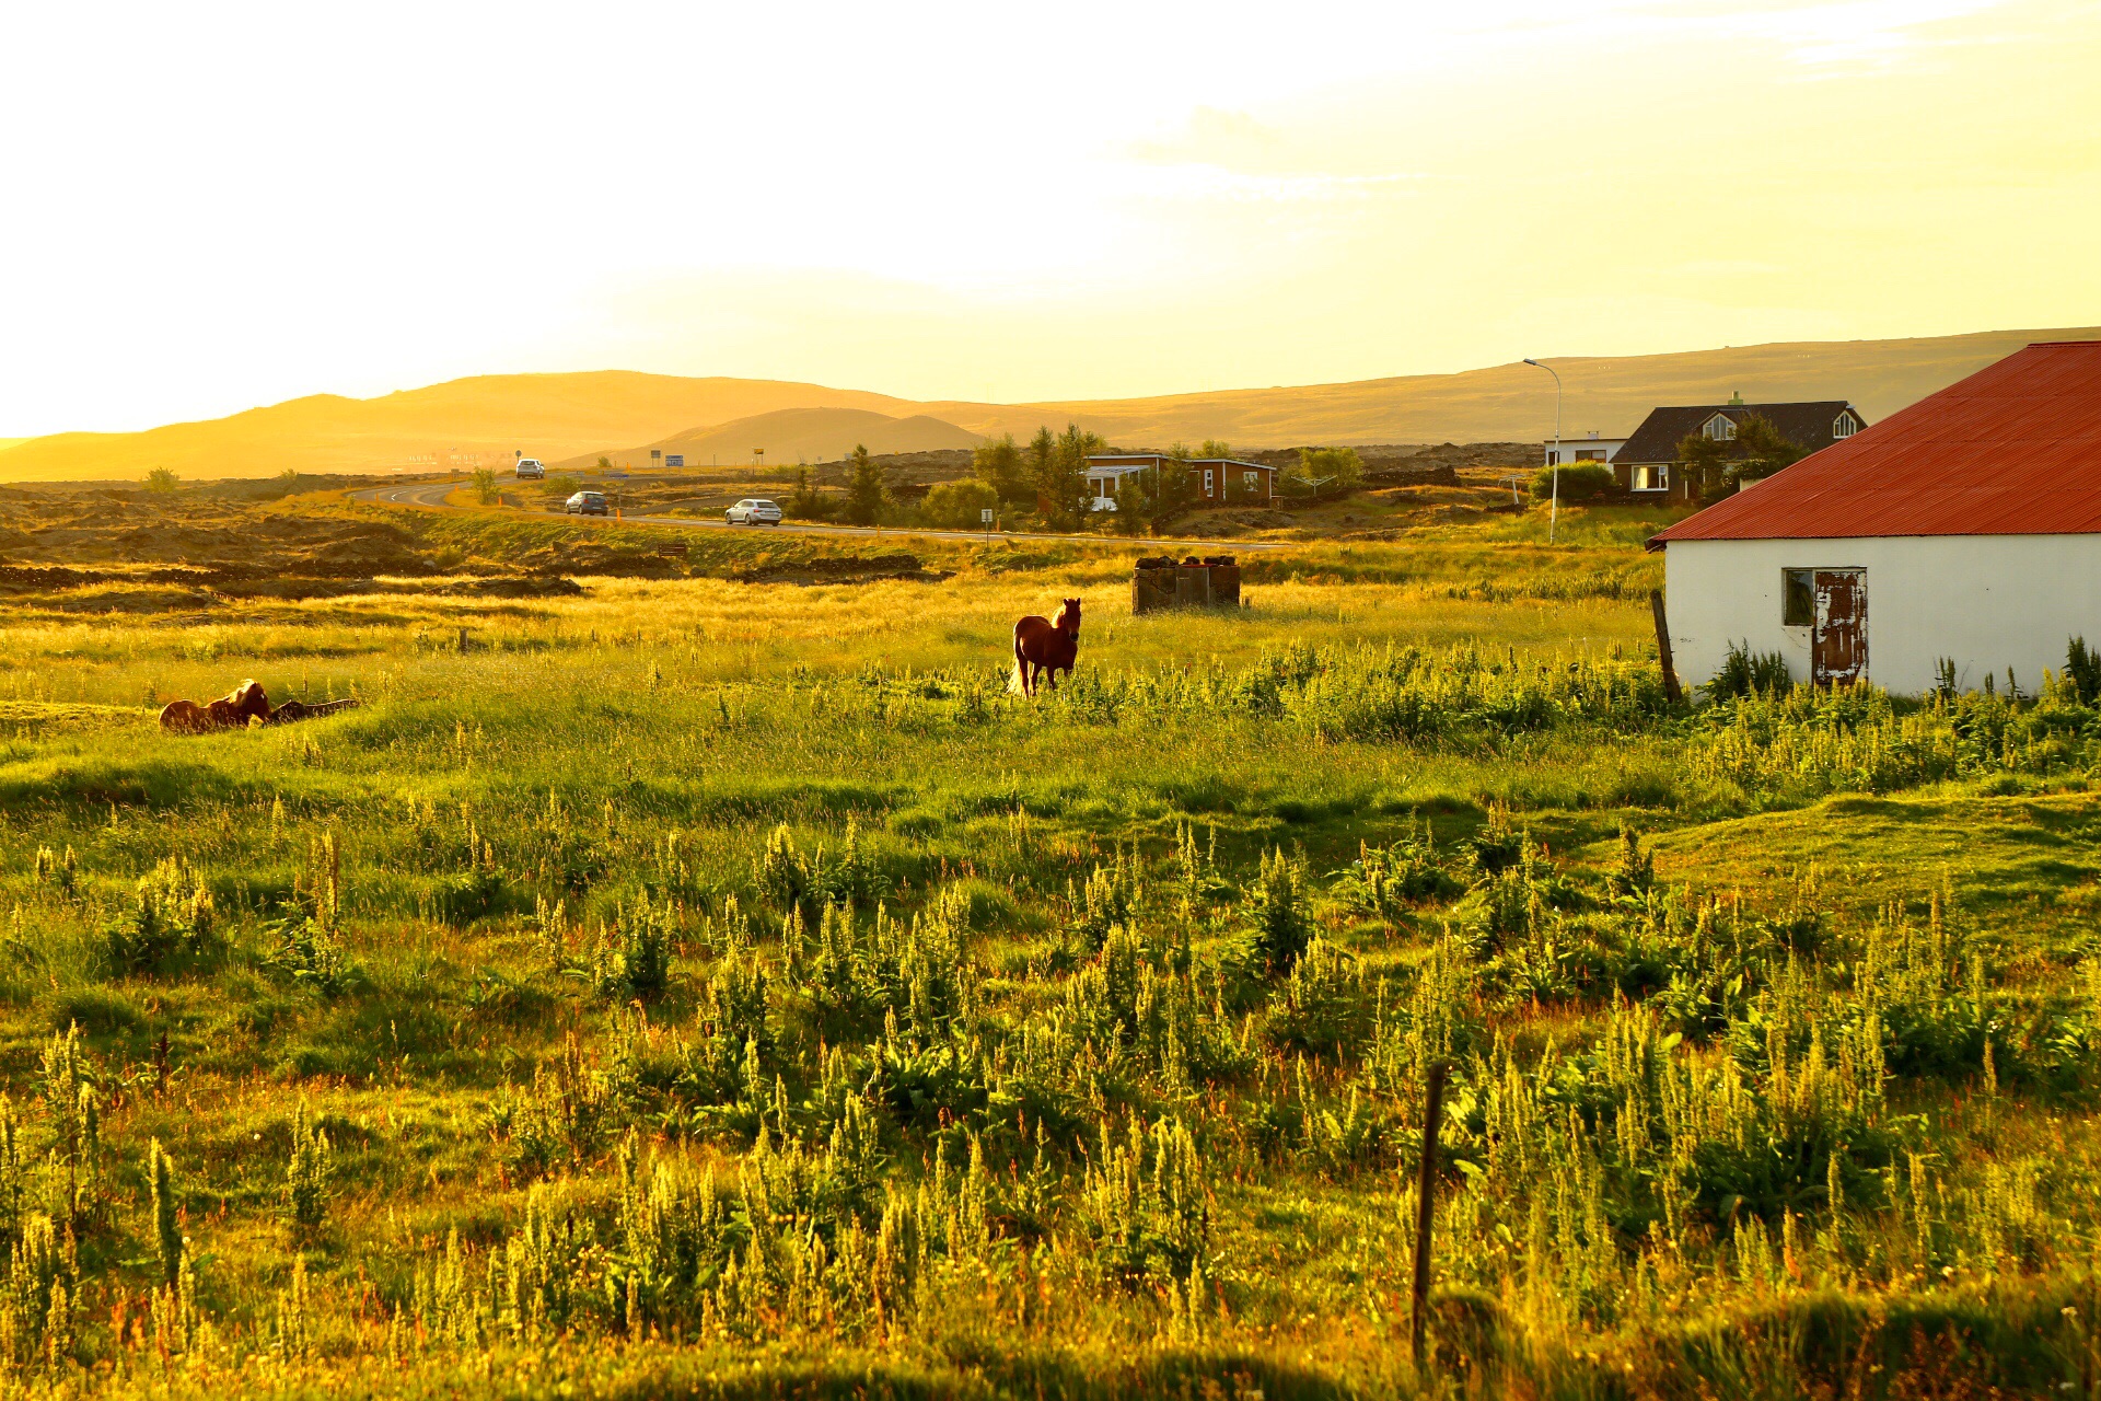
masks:
[[[2101,534],[2101,340],[2044,340],[1649,544],[2084,534]]]

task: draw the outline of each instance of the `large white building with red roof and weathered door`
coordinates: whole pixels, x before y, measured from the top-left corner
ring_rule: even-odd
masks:
[[[1731,647],[1920,693],[2101,641],[2101,340],[2038,342],[1658,534],[1687,687]]]

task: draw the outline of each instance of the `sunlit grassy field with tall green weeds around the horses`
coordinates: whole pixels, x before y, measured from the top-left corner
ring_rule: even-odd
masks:
[[[313,588],[13,538],[11,1384],[2093,1395],[2080,674],[1668,704],[1614,510],[1147,618],[1116,546],[271,510]],[[244,676],[361,704],[155,727]]]

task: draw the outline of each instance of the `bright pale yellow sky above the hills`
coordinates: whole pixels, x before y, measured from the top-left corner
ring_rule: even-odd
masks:
[[[0,6],[0,435],[2101,323],[2101,4]]]

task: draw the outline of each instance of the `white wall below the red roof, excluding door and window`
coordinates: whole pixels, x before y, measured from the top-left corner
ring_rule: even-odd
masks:
[[[1664,607],[1679,681],[1708,681],[1746,641],[1809,678],[1809,628],[1780,624],[1782,569],[1866,569],[1868,678],[1899,695],[1935,685],[1941,657],[1964,689],[1985,672],[2004,685],[2011,666],[2032,691],[2072,636],[2101,645],[2101,536],[1677,540]]]

